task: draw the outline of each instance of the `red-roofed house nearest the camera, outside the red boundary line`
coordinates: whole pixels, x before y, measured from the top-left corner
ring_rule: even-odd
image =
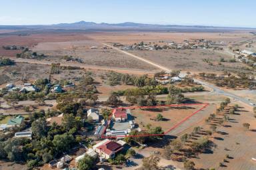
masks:
[[[115,141],[105,139],[94,145],[93,149],[95,149],[95,152],[98,153],[99,157],[109,159],[115,157],[115,154],[121,151],[123,146]]]

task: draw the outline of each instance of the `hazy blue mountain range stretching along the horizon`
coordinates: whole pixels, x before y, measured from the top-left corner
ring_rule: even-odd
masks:
[[[87,21],[79,21],[76,23],[59,23],[55,25],[0,25],[0,29],[19,29],[31,31],[31,33],[49,32],[62,30],[68,31],[164,31],[164,32],[228,32],[228,31],[251,31],[254,28],[241,27],[213,27],[203,25],[156,25],[144,23],[94,23]],[[8,34],[8,33],[3,33]],[[3,35],[1,34],[1,35]],[[11,33],[13,34],[13,33]]]

